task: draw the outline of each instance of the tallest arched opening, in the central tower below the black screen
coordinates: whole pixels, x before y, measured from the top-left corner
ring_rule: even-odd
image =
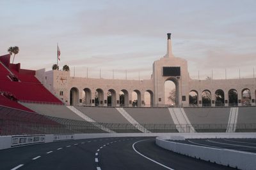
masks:
[[[179,88],[175,79],[164,82],[164,104],[168,106],[179,106]]]

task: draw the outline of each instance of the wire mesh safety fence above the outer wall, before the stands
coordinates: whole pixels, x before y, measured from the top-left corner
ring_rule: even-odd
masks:
[[[140,133],[137,124],[109,124],[46,117],[52,122],[41,123],[17,119],[0,118],[0,135],[20,134],[66,134],[66,133],[105,133],[110,129],[122,133]],[[190,132],[191,126],[196,132],[226,132],[228,124],[140,124],[150,132]],[[234,124],[236,132],[256,132],[256,124]],[[181,130],[182,129],[182,130]],[[145,130],[145,132],[148,132]]]

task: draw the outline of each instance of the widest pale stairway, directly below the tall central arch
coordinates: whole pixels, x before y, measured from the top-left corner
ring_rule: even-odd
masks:
[[[196,132],[183,108],[168,108],[168,110],[179,132]]]

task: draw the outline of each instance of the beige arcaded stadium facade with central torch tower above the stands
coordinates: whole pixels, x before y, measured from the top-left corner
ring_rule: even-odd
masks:
[[[67,105],[109,106],[108,92],[111,92],[111,106],[132,106],[132,92],[136,92],[138,106],[143,107],[144,94],[149,92],[151,106],[164,106],[164,83],[171,80],[175,83],[176,106],[255,106],[255,78],[193,80],[189,77],[187,60],[173,55],[171,34],[167,35],[166,55],[154,61],[150,80],[81,78],[70,76],[69,71],[45,69],[36,71],[36,78]],[[120,92],[124,93],[122,103]],[[191,92],[196,97],[193,103],[189,102]]]

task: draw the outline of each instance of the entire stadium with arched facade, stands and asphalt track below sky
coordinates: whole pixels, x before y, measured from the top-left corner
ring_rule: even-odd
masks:
[[[255,169],[255,78],[193,80],[167,35],[150,80],[78,78],[0,56],[1,169]]]

